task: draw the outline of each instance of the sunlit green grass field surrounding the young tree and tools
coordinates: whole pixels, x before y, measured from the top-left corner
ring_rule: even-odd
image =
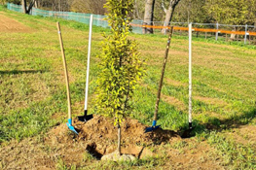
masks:
[[[62,28],[67,67],[70,75],[74,115],[83,112],[89,26],[50,17],[31,17],[0,12],[29,28],[27,32],[0,33],[0,143],[44,134],[66,121],[67,107],[61,53],[55,21]],[[98,72],[101,33],[108,29],[93,27],[91,46],[90,101]],[[151,125],[158,82],[165,55],[166,36],[131,34],[139,43],[146,63],[146,76],[134,95],[132,118]],[[172,38],[165,70],[159,120],[163,128],[182,131],[188,128],[188,38]],[[240,43],[193,39],[193,123],[197,139],[203,138],[228,169],[255,169],[256,149],[239,144],[226,134],[241,125],[256,124],[256,51]],[[81,104],[82,103],[82,104]],[[90,112],[94,113],[90,102]],[[59,117],[55,118],[55,115]],[[173,149],[188,147],[180,142]],[[185,149],[184,149],[185,150]],[[95,168],[163,167],[166,157],[128,163],[92,163]],[[93,161],[92,161],[93,162]],[[60,159],[57,168],[72,169]]]

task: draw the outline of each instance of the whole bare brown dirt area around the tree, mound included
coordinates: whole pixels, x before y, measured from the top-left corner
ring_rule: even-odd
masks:
[[[11,142],[0,148],[0,168],[3,169],[55,169],[59,162],[65,166],[85,167],[98,163],[102,155],[113,153],[117,146],[117,128],[113,120],[94,116],[84,123],[74,119],[79,135],[71,132],[65,123],[55,126],[44,137]],[[165,156],[165,165],[173,169],[188,167],[221,169],[209,158],[212,148],[193,139],[181,139],[176,132],[159,128],[144,133],[146,125],[135,119],[126,119],[122,125],[122,153],[137,158]],[[182,144],[181,148],[177,147]],[[153,149],[153,150],[152,150]],[[92,157],[90,158],[89,153]],[[188,163],[191,162],[191,163]]]

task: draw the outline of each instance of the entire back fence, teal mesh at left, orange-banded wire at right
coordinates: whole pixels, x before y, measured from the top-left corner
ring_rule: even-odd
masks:
[[[20,5],[7,3],[7,8],[19,13],[23,12],[23,7]],[[32,16],[42,17],[61,17],[69,20],[76,20],[82,23],[89,24],[91,14],[73,13],[73,12],[55,12],[40,10],[32,8],[30,11]],[[92,15],[93,25],[110,28],[106,16]],[[145,24],[143,20],[133,19],[130,23],[132,26],[132,32],[137,34],[143,34],[145,29],[152,28],[155,34],[166,34],[169,30],[169,26],[163,21],[154,21],[151,24]],[[171,22],[170,25],[174,26],[175,35],[188,35],[188,22]],[[244,44],[256,44],[256,28],[254,25],[228,25],[220,23],[193,23],[193,35],[197,37],[203,37],[205,39],[211,38],[224,41],[243,41]]]

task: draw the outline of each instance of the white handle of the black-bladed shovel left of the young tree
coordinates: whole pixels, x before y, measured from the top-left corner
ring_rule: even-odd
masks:
[[[92,19],[93,16],[90,17],[90,32],[89,32],[89,45],[88,45],[88,59],[87,59],[87,85],[86,85],[86,94],[85,94],[85,111],[87,111],[88,104],[88,88],[89,88],[89,72],[90,72],[90,56],[91,56],[91,32],[92,32]]]

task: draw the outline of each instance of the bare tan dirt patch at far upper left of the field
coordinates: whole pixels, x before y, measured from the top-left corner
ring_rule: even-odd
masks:
[[[30,32],[31,29],[17,20],[0,14],[0,32]]]

